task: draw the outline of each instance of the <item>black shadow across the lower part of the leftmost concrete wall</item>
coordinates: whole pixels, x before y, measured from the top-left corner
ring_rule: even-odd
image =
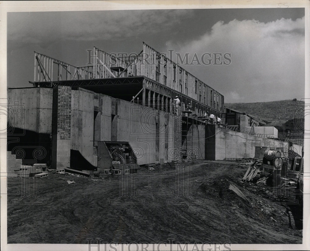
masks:
[[[7,151],[22,159],[24,165],[51,164],[51,134],[14,128],[7,134]]]

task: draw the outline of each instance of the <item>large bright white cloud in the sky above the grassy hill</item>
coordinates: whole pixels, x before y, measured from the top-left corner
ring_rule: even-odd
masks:
[[[304,18],[268,23],[219,21],[196,41],[178,46],[183,55],[231,53],[228,66],[185,68],[234,102],[299,98],[304,94]]]

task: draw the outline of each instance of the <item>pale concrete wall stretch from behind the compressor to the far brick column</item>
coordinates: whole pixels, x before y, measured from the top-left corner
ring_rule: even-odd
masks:
[[[117,141],[139,153],[138,164],[171,161],[174,120],[171,114],[117,99]]]

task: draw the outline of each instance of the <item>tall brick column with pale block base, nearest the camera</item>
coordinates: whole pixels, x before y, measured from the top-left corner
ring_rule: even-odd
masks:
[[[70,167],[71,149],[71,87],[53,90],[52,169]]]

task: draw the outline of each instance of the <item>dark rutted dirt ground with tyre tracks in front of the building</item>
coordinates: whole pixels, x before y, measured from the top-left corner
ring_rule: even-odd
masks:
[[[272,188],[265,184],[243,183],[246,170],[228,161],[209,161],[191,163],[190,169],[175,164],[156,166],[152,172],[141,168],[123,176],[66,173],[36,180],[8,178],[8,243],[87,244],[87,239],[95,238],[137,243],[168,239],[302,243],[302,212],[279,199],[271,203]],[[33,183],[37,198],[27,194]],[[230,184],[246,199],[230,190]]]

